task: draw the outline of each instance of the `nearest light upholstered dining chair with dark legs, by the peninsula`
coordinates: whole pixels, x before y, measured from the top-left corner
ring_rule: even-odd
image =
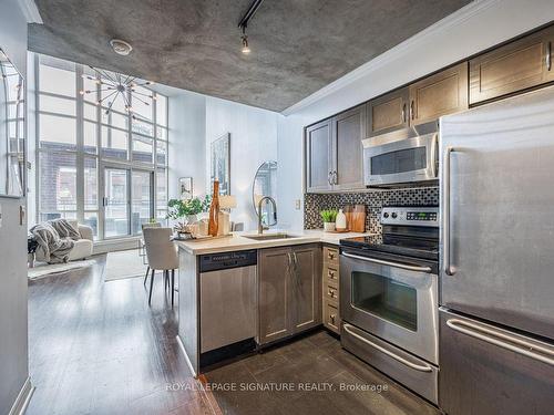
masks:
[[[155,271],[164,271],[166,286],[170,283],[170,271],[172,271],[171,291],[173,308],[175,297],[175,269],[178,268],[178,256],[176,247],[171,240],[172,229],[147,227],[144,228],[143,235],[144,246],[146,248],[146,258],[148,260],[148,267],[151,269],[148,305],[152,302],[152,289],[154,287]]]

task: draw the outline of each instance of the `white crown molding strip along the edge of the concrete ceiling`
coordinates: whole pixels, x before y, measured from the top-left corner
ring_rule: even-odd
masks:
[[[362,76],[367,76],[371,72],[382,68],[389,62],[392,62],[399,59],[403,53],[412,49],[419,42],[422,42],[424,39],[437,34],[438,32],[445,31],[449,28],[453,28],[463,23],[465,20],[472,18],[473,15],[480,13],[481,11],[491,8],[495,3],[501,0],[475,0],[463,8],[456,10],[452,14],[447,15],[444,19],[439,20],[437,23],[430,25],[427,29],[423,29],[421,32],[418,32],[413,37],[407,39],[400,44],[397,44],[394,48],[389,49],[388,51],[381,53],[380,55],[373,58],[371,61],[358,66],[353,71],[347,73],[346,75],[339,77],[338,80],[331,82],[330,84],[324,86],[322,89],[316,91],[311,95],[308,95],[304,100],[297,102],[296,104],[290,105],[288,108],[281,112],[283,115],[290,115],[305,107],[316,103],[317,101],[324,98],[337,92],[352,82],[359,80]]]

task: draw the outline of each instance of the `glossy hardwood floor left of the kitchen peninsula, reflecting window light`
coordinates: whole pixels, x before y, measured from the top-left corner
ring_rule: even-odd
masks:
[[[175,340],[162,274],[148,308],[142,278],[104,282],[105,256],[95,258],[93,267],[29,282],[37,390],[28,414],[213,414]]]

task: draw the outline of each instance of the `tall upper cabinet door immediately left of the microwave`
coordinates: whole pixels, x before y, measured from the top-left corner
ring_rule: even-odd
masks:
[[[363,188],[363,138],[366,105],[332,118],[332,190]]]

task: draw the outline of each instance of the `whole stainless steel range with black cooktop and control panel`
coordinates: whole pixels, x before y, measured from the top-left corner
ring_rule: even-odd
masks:
[[[438,404],[439,208],[384,207],[380,222],[340,241],[341,343]]]

